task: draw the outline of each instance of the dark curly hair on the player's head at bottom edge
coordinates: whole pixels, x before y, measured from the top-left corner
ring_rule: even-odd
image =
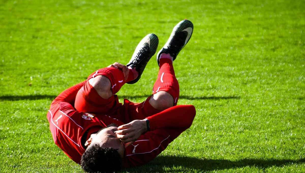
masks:
[[[81,157],[81,167],[86,172],[119,171],[122,168],[122,158],[113,148],[104,148],[93,144]]]

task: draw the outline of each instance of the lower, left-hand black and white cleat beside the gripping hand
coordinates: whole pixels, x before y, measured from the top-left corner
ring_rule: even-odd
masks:
[[[132,55],[127,67],[131,67],[138,72],[138,77],[135,80],[127,82],[127,84],[134,84],[140,78],[148,63],[149,59],[156,53],[159,44],[159,38],[156,34],[146,35],[138,44]]]

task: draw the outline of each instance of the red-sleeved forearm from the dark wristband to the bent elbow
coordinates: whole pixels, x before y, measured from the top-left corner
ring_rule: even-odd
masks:
[[[147,117],[150,130],[158,128],[184,128],[192,125],[196,109],[193,105],[173,106],[162,112]]]

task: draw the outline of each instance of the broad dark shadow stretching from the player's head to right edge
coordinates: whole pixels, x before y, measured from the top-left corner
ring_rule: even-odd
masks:
[[[230,168],[252,167],[266,169],[272,166],[282,167],[287,164],[305,163],[305,159],[299,160],[263,160],[263,159],[242,159],[237,161],[224,159],[199,159],[192,157],[159,156],[146,166],[126,169],[126,171],[144,172],[164,172],[163,167],[168,167],[167,171],[186,171],[185,169],[199,169],[200,171],[223,170]]]

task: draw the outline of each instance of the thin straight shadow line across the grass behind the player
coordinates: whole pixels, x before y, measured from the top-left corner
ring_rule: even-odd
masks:
[[[119,98],[127,98],[127,99],[138,99],[138,98],[147,98],[151,95],[135,95],[135,96],[127,96],[127,95],[119,95]],[[27,95],[27,96],[0,96],[0,100],[40,100],[40,99],[55,99],[55,95]],[[180,96],[180,99],[188,99],[188,100],[221,100],[221,99],[240,99],[240,96]]]

